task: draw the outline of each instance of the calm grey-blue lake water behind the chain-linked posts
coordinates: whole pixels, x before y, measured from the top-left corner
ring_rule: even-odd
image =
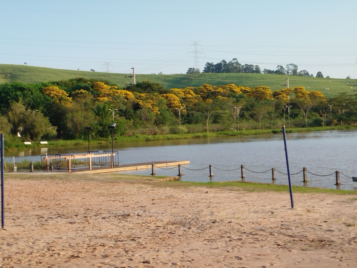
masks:
[[[340,172],[340,189],[355,189],[357,183],[357,130],[318,131],[291,133],[286,135],[290,173],[302,171],[306,167],[307,186],[336,188],[336,170]],[[20,152],[5,152],[5,161],[28,159],[40,161],[42,154],[86,153],[87,145],[75,147],[37,148]],[[111,143],[91,145],[93,150],[111,151]],[[271,183],[271,168],[287,173],[282,134],[252,135],[242,137],[219,137],[154,142],[115,143],[119,151],[119,162],[140,163],[159,160],[190,160],[183,165],[181,180],[208,182],[241,180],[240,165],[244,164],[245,180]],[[209,165],[213,166],[213,177],[209,177]],[[191,170],[195,169],[195,170]],[[197,170],[203,169],[203,170]],[[236,170],[235,170],[236,169]],[[250,172],[247,169],[253,171]],[[264,172],[265,173],[254,173]],[[287,175],[276,171],[276,184],[288,184]],[[125,172],[126,174],[149,175],[151,169]],[[176,176],[178,169],[155,168],[156,175]],[[293,185],[303,185],[303,174],[291,175]]]

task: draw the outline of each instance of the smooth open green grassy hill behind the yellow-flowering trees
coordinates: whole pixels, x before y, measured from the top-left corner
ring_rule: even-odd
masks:
[[[19,81],[22,83],[36,83],[57,81],[76,77],[105,79],[119,87],[131,83],[131,78],[125,78],[126,74],[98,73],[91,71],[61,70],[43,67],[0,64],[0,83]],[[277,74],[136,74],[136,82],[149,80],[159,83],[167,89],[184,88],[186,86],[200,86],[202,84],[225,85],[235,84],[255,87],[259,85],[269,86],[272,91],[285,88],[286,78],[289,86],[305,86],[307,90],[321,91],[327,97],[337,96],[343,92],[347,94],[357,93],[357,79],[314,78]]]

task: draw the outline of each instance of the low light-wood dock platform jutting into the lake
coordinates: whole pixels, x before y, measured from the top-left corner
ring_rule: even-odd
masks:
[[[83,169],[75,169],[74,172],[80,172],[81,174],[95,174],[95,173],[106,173],[106,172],[119,172],[119,171],[127,171],[127,170],[137,170],[137,169],[145,169],[151,168],[151,165],[154,164],[156,167],[170,167],[175,165],[186,165],[190,164],[189,160],[180,160],[180,161],[154,161],[154,162],[144,162],[144,163],[132,163],[132,164],[119,164],[114,168],[94,168],[92,170],[83,170]]]

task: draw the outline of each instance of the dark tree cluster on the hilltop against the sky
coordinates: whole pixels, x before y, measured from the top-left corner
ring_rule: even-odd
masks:
[[[203,73],[251,73],[251,74],[283,74],[283,75],[298,75],[298,76],[310,76],[307,70],[298,71],[298,66],[296,64],[287,64],[285,68],[282,65],[276,66],[276,70],[260,69],[258,65],[253,64],[240,64],[236,58],[232,59],[227,63],[225,60],[214,64],[207,62]],[[188,68],[186,74],[200,73],[200,69]],[[317,72],[316,77],[323,78],[321,71]]]

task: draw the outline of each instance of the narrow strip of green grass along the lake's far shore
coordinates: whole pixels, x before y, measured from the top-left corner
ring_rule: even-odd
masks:
[[[312,131],[326,131],[326,130],[346,130],[357,129],[355,125],[348,126],[321,126],[314,128],[290,128],[286,129],[286,133],[302,133]],[[240,130],[240,131],[220,131],[210,133],[186,133],[186,134],[167,134],[167,135],[135,135],[133,137],[117,137],[116,143],[125,142],[148,142],[155,140],[178,140],[178,139],[196,139],[196,138],[212,138],[212,137],[235,137],[243,135],[263,135],[263,134],[281,134],[282,129],[262,129],[262,130]],[[48,140],[48,144],[32,143],[25,145],[19,140],[15,140],[13,137],[9,138],[9,142],[6,142],[5,135],[5,150],[23,150],[26,148],[36,147],[63,147],[63,146],[75,146],[88,144],[87,139],[81,140]],[[107,144],[110,143],[109,139],[91,139],[91,144]]]

